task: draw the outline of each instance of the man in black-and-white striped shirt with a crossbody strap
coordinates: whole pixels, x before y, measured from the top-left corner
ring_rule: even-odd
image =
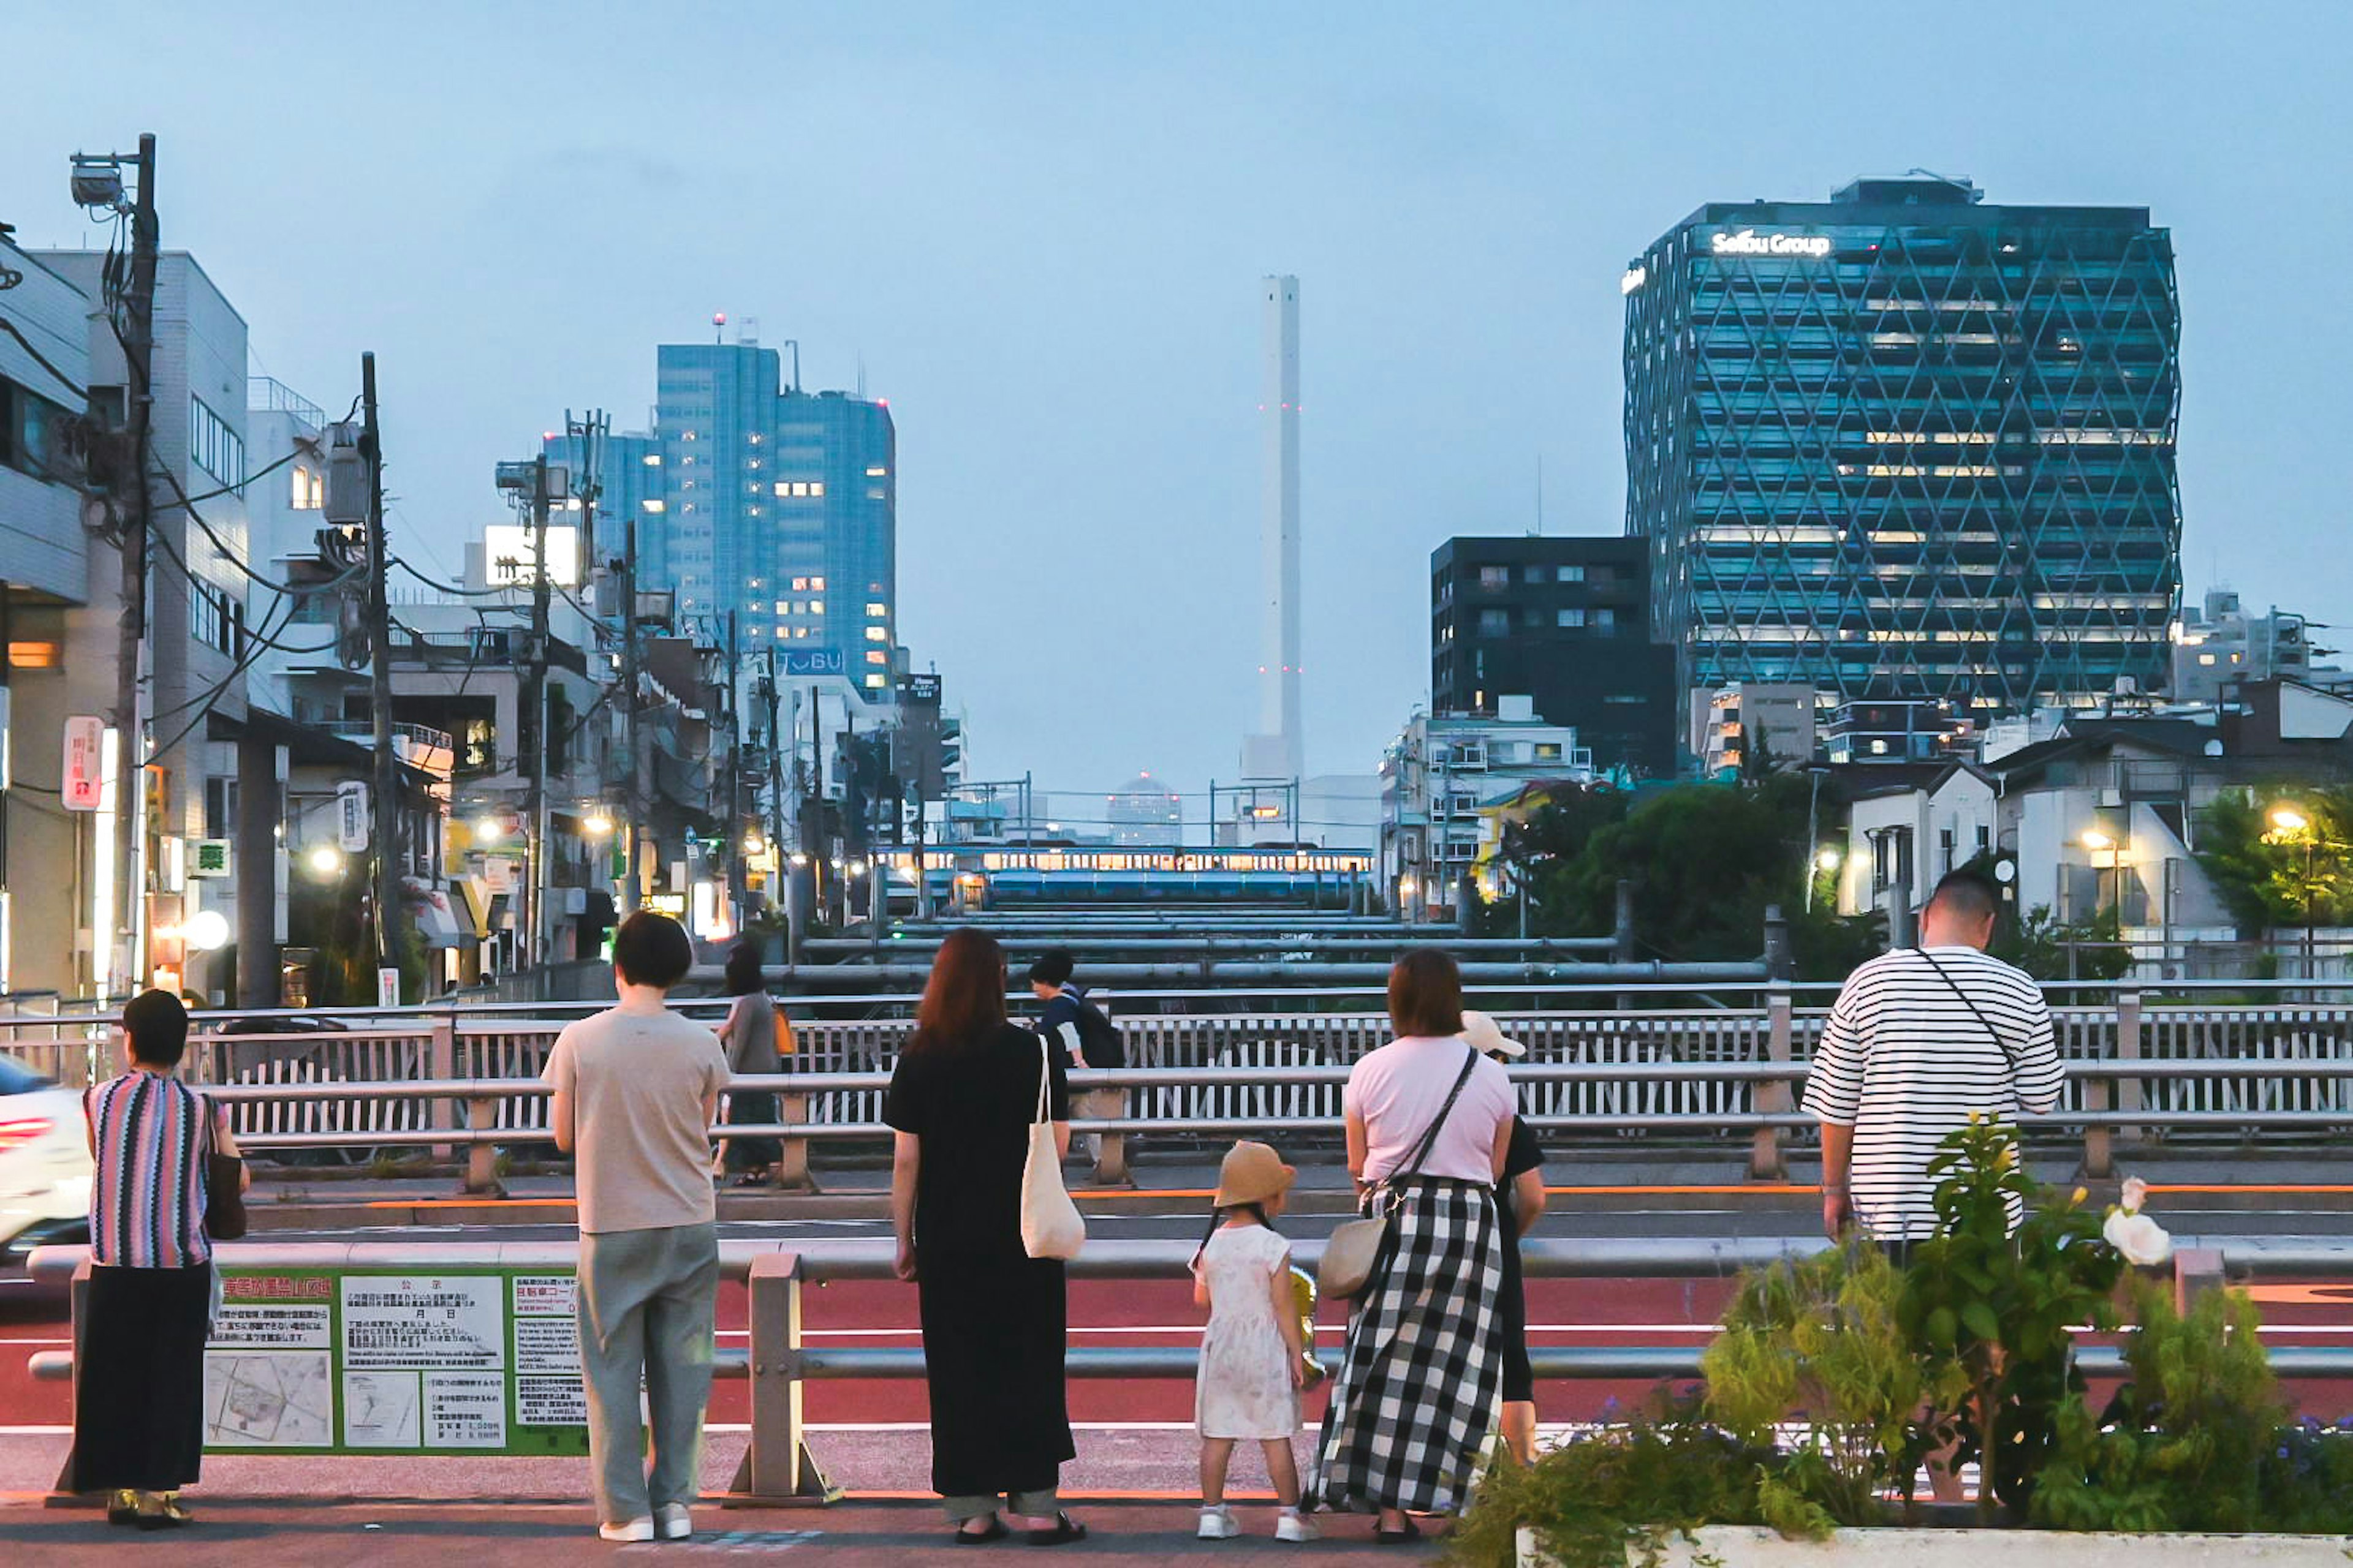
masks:
[[[1986,954],[2000,893],[1948,872],[1920,912],[1920,945],[1857,969],[1805,1079],[1821,1119],[1821,1225],[1878,1241],[1937,1229],[1937,1145],[1972,1114],[2012,1119],[2059,1103],[2052,1013],[2035,983]],[[2019,1215],[2012,1213],[2012,1227]]]

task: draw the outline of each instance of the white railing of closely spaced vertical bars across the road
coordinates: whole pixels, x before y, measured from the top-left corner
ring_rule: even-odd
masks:
[[[720,1001],[687,1004],[718,1018]],[[544,1013],[544,1009],[539,1009]],[[2115,1006],[2057,1009],[2061,1058],[2094,1063],[2207,1063],[2184,1077],[2146,1077],[2120,1086],[2106,1079],[2071,1084],[2059,1114],[2134,1110],[2148,1133],[2191,1121],[2231,1117],[2257,1126],[2280,1112],[2353,1124],[2353,1081],[2327,1072],[2353,1063],[2353,1009],[2344,1006],[2144,1006],[2125,994]],[[188,1077],[221,1086],[318,1088],[311,1095],[271,1095],[240,1103],[240,1133],[393,1133],[431,1126],[416,1100],[376,1098],[334,1105],[336,1084],[400,1084],[504,1079],[527,1084],[546,1065],[562,1018],[532,1009],[438,1009],[325,1032],[231,1034],[205,1030],[191,1044]],[[1621,1119],[1626,1126],[1725,1126],[1727,1119],[1788,1110],[1788,1091],[1737,1074],[1675,1074],[1675,1065],[1805,1063],[1821,1034],[1824,1013],[1800,1011],[1791,997],[1748,1011],[1602,1011],[1501,1013],[1506,1032],[1529,1046],[1529,1067],[1600,1070],[1527,1081],[1522,1107],[1546,1119]],[[115,1046],[85,1020],[14,1020],[5,1048],[35,1072],[82,1084],[113,1072]],[[795,1074],[880,1074],[899,1056],[908,1020],[795,1020]],[[1346,1067],[1388,1039],[1379,1013],[1136,1013],[1122,1016],[1129,1065],[1184,1070],[1181,1077],[1136,1086],[1139,1121],[1233,1121],[1249,1117],[1337,1119],[1337,1084],[1242,1084],[1228,1074],[1259,1067]],[[1612,1072],[1612,1070],[1645,1072]],[[1647,1070],[1661,1072],[1647,1072]],[[809,1095],[807,1119],[819,1126],[875,1124],[880,1081],[847,1079]],[[536,1095],[513,1093],[496,1105],[496,1126],[544,1126]],[[449,1121],[445,1119],[442,1126]]]

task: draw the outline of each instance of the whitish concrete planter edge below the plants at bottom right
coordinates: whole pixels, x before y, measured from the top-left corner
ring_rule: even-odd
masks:
[[[2012,1556],[2024,1554],[2024,1556]],[[1668,1537],[1661,1568],[2346,1568],[2348,1535],[2068,1535],[2061,1530],[1840,1530],[1781,1540],[1760,1526],[1713,1526]],[[1520,1568],[1553,1568],[1537,1533],[1520,1530]]]

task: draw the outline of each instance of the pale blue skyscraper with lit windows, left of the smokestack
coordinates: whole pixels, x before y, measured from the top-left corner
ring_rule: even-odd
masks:
[[[605,449],[598,550],[619,552],[612,520],[635,508],[640,588],[675,592],[685,621],[734,614],[746,661],[772,644],[840,654],[842,675],[887,703],[896,470],[889,404],[784,386],[758,343],[664,343],[652,435]]]

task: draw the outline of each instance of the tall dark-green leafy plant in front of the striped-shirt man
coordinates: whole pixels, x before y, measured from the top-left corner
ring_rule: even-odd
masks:
[[[1991,1521],[1995,1502],[2026,1509],[2059,1408],[2082,1389],[2071,1328],[2115,1328],[2125,1260],[2101,1241],[2082,1190],[2042,1199],[2009,1126],[1972,1117],[1941,1150],[1927,1166],[1941,1178],[1937,1232],[1911,1248],[1901,1326],[1934,1368],[1929,1387],[1958,1399],[1937,1401],[1915,1443],[1922,1458],[1948,1450],[1939,1462],[1953,1469],[1981,1467],[1979,1514]]]

